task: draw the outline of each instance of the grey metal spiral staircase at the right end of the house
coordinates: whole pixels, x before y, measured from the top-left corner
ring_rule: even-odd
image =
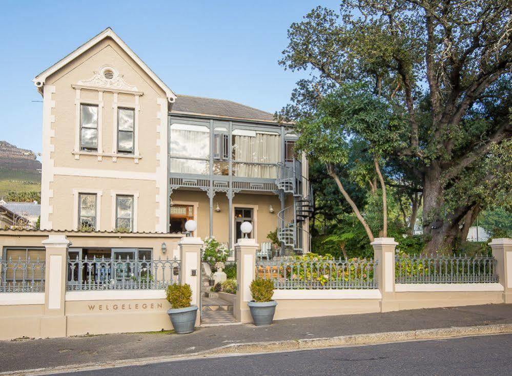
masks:
[[[277,238],[285,247],[301,254],[304,242],[310,242],[310,234],[304,224],[313,215],[313,192],[309,180],[296,170],[295,162],[293,167],[278,163],[276,185],[284,193],[285,202],[286,194],[291,194],[293,203],[277,213]]]

